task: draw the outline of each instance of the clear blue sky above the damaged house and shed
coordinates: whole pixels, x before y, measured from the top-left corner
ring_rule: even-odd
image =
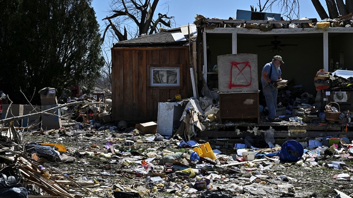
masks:
[[[264,2],[264,0],[262,0]],[[324,0],[320,0],[326,8]],[[103,18],[105,18],[109,10],[110,0],[93,0],[92,7],[96,11],[97,21],[104,26]],[[169,4],[169,10],[164,3]],[[155,14],[158,12],[164,14],[168,12],[168,16],[175,17],[175,23],[178,26],[193,23],[196,14],[202,14],[205,17],[228,19],[236,17],[237,10],[250,10],[250,5],[257,7],[258,0],[160,0]],[[317,18],[320,20],[314,6],[310,0],[299,0],[300,18]],[[280,8],[273,6],[272,12],[279,13]]]

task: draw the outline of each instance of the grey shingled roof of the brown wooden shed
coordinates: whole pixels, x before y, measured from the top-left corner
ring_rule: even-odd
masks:
[[[182,46],[186,41],[174,41],[172,33],[181,32],[180,28],[166,30],[152,35],[140,36],[114,44],[114,48],[121,47],[156,47],[156,46]]]

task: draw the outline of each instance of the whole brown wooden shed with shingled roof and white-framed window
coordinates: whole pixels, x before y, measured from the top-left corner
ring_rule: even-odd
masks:
[[[112,118],[138,123],[157,120],[158,103],[192,95],[187,41],[180,29],[115,43],[112,48]]]

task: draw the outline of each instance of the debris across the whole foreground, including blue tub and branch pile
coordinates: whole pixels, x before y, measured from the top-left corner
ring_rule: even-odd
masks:
[[[25,133],[22,141],[10,127],[1,136],[1,190],[16,197],[350,196],[353,143],[346,137],[280,146],[270,130],[268,148],[251,138],[233,148],[161,136],[149,125],[69,126],[51,135]]]

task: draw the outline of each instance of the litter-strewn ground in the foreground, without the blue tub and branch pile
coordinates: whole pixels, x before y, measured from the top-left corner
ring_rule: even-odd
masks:
[[[23,144],[64,145],[67,151],[60,154],[75,157],[73,163],[50,162],[41,156],[35,160],[27,153],[28,160],[42,163],[50,170],[48,180],[62,184],[72,196],[319,198],[336,197],[337,190],[352,196],[353,161],[349,144],[337,143],[337,147],[329,149],[311,148],[315,152],[304,154],[298,162],[283,162],[278,156],[239,162],[235,161],[240,157],[237,149],[210,143],[216,160],[204,157],[191,161],[195,158],[193,148],[178,146],[181,141],[178,138],[167,140],[156,134],[142,135],[133,128],[119,131],[116,126],[104,125],[100,130],[75,129],[73,124],[60,130],[23,131],[22,135]],[[207,141],[196,142],[188,143],[199,146]],[[2,156],[12,156],[9,151],[16,150],[6,144],[1,147]],[[272,149],[249,150],[271,154],[280,149],[276,145]],[[166,158],[171,154],[172,161]],[[338,169],[332,167],[333,162],[339,162]],[[13,165],[4,159],[1,164],[2,167]],[[65,176],[56,174],[54,169]],[[46,193],[39,191],[39,194]]]

